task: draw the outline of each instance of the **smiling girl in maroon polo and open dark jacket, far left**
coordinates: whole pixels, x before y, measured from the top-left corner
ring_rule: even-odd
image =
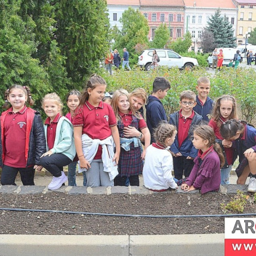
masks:
[[[40,170],[40,156],[46,152],[44,127],[39,112],[28,108],[34,101],[27,86],[14,84],[5,93],[1,115],[0,163],[2,185],[16,185],[19,172],[23,185],[34,185],[35,170]]]

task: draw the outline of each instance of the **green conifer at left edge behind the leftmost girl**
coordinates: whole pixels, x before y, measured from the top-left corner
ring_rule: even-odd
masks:
[[[27,17],[25,22],[18,15],[21,2],[0,1],[0,103],[3,103],[3,92],[18,83],[31,88],[36,100],[35,108],[40,108],[41,94],[49,92],[52,87],[45,69],[38,59],[32,57],[37,47],[36,25],[31,17]]]

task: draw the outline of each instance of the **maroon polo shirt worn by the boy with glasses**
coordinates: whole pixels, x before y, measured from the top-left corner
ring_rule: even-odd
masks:
[[[182,143],[184,142],[184,140],[186,139],[187,135],[188,135],[188,131],[189,131],[189,127],[191,125],[192,119],[195,115],[194,110],[192,110],[192,114],[185,118],[182,114],[179,113],[179,124],[178,124],[178,143],[179,143],[179,147],[181,147]]]

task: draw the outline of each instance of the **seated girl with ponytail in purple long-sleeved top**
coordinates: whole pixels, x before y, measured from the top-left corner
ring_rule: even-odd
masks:
[[[214,130],[202,125],[194,130],[193,145],[199,150],[195,165],[181,188],[184,191],[200,189],[202,194],[218,191],[221,184],[221,166],[225,163],[221,147],[215,143]]]

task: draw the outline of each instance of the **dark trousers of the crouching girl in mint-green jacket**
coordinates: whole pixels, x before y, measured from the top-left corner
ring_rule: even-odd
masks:
[[[54,177],[60,177],[63,166],[70,164],[72,160],[63,154],[52,154],[40,159],[40,165],[46,168]]]

